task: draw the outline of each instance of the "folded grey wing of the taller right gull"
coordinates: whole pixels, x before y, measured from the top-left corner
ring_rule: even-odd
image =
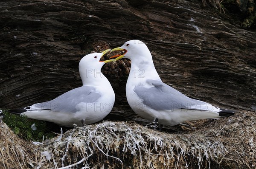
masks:
[[[202,107],[202,104],[207,104],[204,101],[191,99],[163,82],[157,80],[147,80],[146,82],[153,87],[145,88],[139,85],[134,88],[134,92],[146,106],[154,110],[198,110],[197,105]]]

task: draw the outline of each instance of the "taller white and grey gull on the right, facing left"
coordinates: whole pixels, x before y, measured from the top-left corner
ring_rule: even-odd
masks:
[[[233,110],[220,109],[204,101],[191,99],[160,79],[148,47],[139,40],[125,42],[112,51],[125,51],[112,56],[131,60],[126,83],[128,104],[141,117],[159,124],[176,125],[183,121],[221,118],[234,115]]]

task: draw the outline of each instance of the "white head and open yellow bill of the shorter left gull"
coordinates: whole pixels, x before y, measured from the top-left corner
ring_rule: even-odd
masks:
[[[113,59],[100,61],[100,58],[104,56],[110,49],[103,51],[102,53],[87,54],[79,62],[79,73],[83,82],[83,85],[103,77],[101,73],[102,66],[107,62],[112,62]]]

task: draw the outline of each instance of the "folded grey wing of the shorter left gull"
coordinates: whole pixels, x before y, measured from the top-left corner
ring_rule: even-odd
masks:
[[[51,110],[51,111],[64,111],[76,112],[76,105],[84,103],[96,102],[101,97],[100,93],[96,92],[94,87],[82,86],[70,90],[61,96],[42,103],[33,104],[30,110]]]

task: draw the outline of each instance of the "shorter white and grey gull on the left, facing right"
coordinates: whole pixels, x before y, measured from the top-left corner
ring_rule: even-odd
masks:
[[[79,73],[83,86],[70,90],[57,98],[9,110],[10,113],[26,115],[28,118],[51,121],[61,126],[83,126],[105,118],[115,102],[115,93],[108,79],[101,73],[102,66],[112,60],[99,61],[109,49],[102,53],[88,54],[79,62]]]

